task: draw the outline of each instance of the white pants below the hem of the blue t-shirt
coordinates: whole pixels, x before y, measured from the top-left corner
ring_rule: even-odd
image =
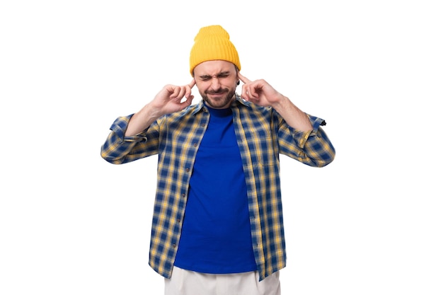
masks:
[[[280,274],[258,282],[258,272],[202,274],[174,267],[165,295],[280,295]]]

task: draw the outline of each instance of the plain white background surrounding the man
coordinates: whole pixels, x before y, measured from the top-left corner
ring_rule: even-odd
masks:
[[[163,294],[156,157],[113,166],[100,146],[190,81],[213,24],[337,150],[321,169],[281,159],[282,294],[443,294],[438,2],[2,1],[0,294]]]

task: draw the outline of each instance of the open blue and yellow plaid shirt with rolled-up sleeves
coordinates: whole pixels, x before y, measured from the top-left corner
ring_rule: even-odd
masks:
[[[313,130],[289,127],[272,108],[240,98],[231,105],[248,191],[255,262],[260,280],[286,265],[279,154],[309,166],[328,165],[335,149],[321,129],[324,120],[309,115]],[[164,115],[134,137],[124,137],[131,115],[118,117],[101,156],[114,164],[159,155],[149,265],[170,278],[180,241],[195,156],[209,122],[202,101]],[[229,184],[226,184],[229,185]]]

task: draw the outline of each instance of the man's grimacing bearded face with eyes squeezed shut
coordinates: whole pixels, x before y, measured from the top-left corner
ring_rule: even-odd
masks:
[[[235,98],[237,71],[234,64],[211,60],[195,66],[194,78],[200,96],[211,108],[229,108]]]

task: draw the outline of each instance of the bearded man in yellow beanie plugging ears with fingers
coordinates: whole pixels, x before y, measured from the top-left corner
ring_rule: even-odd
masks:
[[[279,154],[316,167],[335,157],[324,120],[240,69],[226,30],[201,28],[192,81],[118,117],[102,146],[114,164],[159,156],[149,265],[165,294],[280,294]],[[192,105],[194,86],[202,100]]]

